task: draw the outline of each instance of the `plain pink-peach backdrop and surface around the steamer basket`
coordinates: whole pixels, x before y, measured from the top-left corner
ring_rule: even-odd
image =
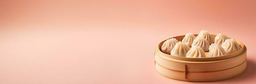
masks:
[[[256,82],[256,0],[0,0],[0,84],[198,84],[161,76],[154,50],[186,33],[248,48],[232,79]]]

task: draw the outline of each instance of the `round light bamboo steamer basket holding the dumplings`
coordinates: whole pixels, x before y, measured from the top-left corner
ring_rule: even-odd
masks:
[[[182,41],[184,37],[185,35],[172,38]],[[212,39],[215,37],[216,35],[211,35]],[[180,81],[206,82],[230,79],[241,74],[246,68],[246,47],[242,42],[234,40],[240,45],[240,50],[211,58],[186,58],[165,54],[161,51],[161,46],[166,41],[164,40],[155,50],[156,70],[165,77]],[[208,52],[205,53],[208,57]]]

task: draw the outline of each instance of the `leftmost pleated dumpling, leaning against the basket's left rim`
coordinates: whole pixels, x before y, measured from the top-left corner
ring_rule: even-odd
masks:
[[[172,39],[167,39],[164,44],[161,47],[161,51],[166,53],[166,54],[170,54],[172,48],[176,45],[176,43],[178,43],[179,41],[175,38]]]

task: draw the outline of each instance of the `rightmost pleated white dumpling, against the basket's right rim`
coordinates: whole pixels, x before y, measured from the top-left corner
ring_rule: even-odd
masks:
[[[235,53],[236,51],[240,50],[240,45],[234,39],[226,39],[222,44],[222,47],[227,54]]]

